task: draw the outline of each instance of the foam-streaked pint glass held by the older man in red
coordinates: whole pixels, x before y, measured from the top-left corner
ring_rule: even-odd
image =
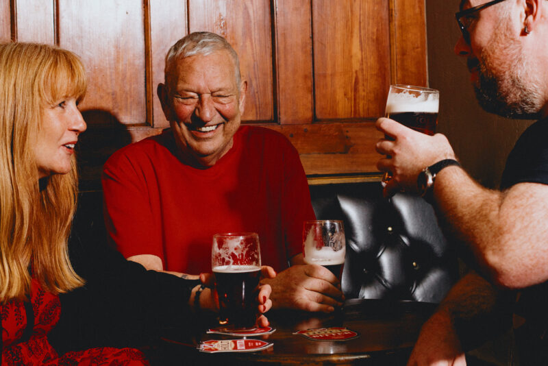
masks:
[[[345,228],[340,220],[305,221],[303,257],[309,265],[321,265],[337,276],[343,276],[346,254]]]

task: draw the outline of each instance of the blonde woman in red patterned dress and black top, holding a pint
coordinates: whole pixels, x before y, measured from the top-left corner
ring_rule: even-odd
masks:
[[[0,45],[3,365],[146,365],[132,347],[162,326],[190,323],[196,306],[216,307],[212,291],[196,281],[145,271],[71,233],[74,149],[86,130],[77,104],[85,93],[84,67],[70,51]],[[262,286],[261,312],[271,307],[269,295]]]

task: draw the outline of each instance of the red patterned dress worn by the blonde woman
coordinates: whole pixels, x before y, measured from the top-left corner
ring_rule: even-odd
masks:
[[[30,302],[12,300],[0,305],[1,365],[149,365],[134,348],[92,348],[57,354],[47,339],[57,324],[61,303],[57,295],[44,291],[32,280]],[[27,327],[28,320],[33,324]]]

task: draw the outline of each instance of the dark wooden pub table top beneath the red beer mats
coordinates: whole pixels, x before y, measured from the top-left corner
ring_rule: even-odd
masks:
[[[273,334],[252,337],[272,342],[260,352],[208,354],[196,348],[210,339],[237,339],[206,334],[202,328],[172,329],[163,337],[162,365],[405,365],[422,324],[436,304],[390,300],[348,300],[340,313],[330,316],[295,311],[271,311],[267,315]],[[310,328],[345,327],[358,337],[345,341],[316,341],[295,334]],[[167,361],[169,358],[169,362]]]

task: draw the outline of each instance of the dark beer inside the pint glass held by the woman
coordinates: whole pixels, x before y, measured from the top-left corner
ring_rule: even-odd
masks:
[[[260,267],[215,267],[213,273],[219,294],[219,323],[234,329],[255,328]]]

